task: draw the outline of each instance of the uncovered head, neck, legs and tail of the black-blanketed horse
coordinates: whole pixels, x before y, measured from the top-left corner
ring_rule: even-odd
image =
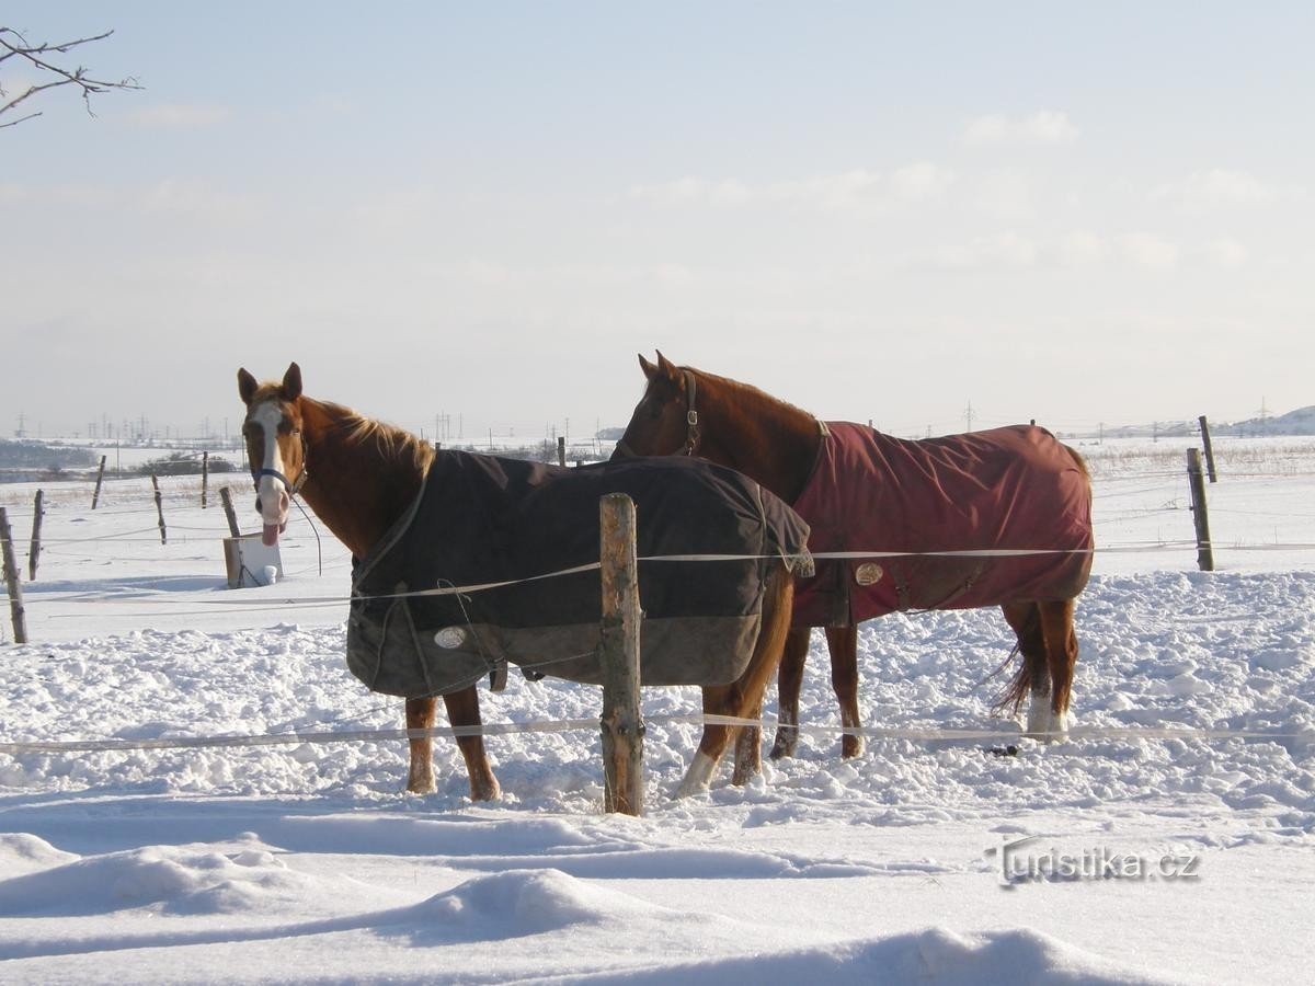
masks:
[[[262,540],[267,546],[277,543],[279,534],[288,523],[292,498],[300,494],[351,551],[354,560],[366,559],[416,501],[435,456],[468,455],[437,452],[429,443],[402,429],[367,418],[343,405],[308,397],[302,392],[301,369],[296,363],[288,367],[281,381],[258,383],[245,368],[239,369],[238,393],[246,405],[242,434],[246,439],[247,464],[256,486],[256,511],[263,522]],[[494,465],[506,461],[493,460],[492,456],[469,458],[488,459]],[[736,480],[742,479],[726,472]],[[753,489],[756,502],[769,497],[756,484]],[[472,511],[479,510],[479,505],[471,506]],[[806,557],[806,526],[784,505],[780,505],[780,510],[789,513],[797,525],[798,551]],[[780,663],[789,631],[794,592],[794,578],[785,557],[764,563],[764,571],[767,576],[761,585],[761,619],[756,624],[756,638],[750,640],[752,653],[738,678],[729,684],[704,686],[706,714],[731,718],[757,718],[760,714],[763,693]],[[471,799],[498,798],[498,781],[489,765],[483,736],[479,735],[480,703],[475,685],[454,689],[442,698],[447,706],[448,722],[456,727],[456,743],[469,776]],[[405,707],[409,731],[427,731],[434,726],[435,694],[406,694]],[[735,727],[705,726],[698,751],[681,781],[677,797],[707,789],[732,735]],[[430,735],[413,735],[409,753],[406,790],[434,791]],[[739,736],[735,743],[732,784],[746,784],[759,769],[757,736]]]

